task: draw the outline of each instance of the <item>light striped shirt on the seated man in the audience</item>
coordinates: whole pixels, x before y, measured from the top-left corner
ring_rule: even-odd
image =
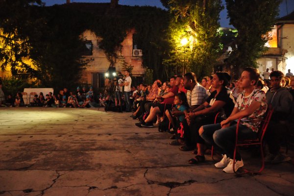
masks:
[[[190,107],[192,105],[201,105],[209,96],[209,91],[206,90],[199,83],[195,85],[192,93],[189,90],[187,91],[187,100]]]

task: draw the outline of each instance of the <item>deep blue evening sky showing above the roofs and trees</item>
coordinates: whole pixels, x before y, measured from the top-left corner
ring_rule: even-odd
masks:
[[[47,6],[54,5],[54,4],[63,4],[66,0],[42,0],[46,3]],[[223,4],[225,0],[222,0]],[[110,2],[110,0],[71,0],[71,2]],[[288,2],[288,14],[294,11],[294,0],[287,0]],[[119,0],[119,4],[122,5],[150,5],[156,6],[160,8],[164,8],[160,2],[160,0]],[[225,5],[225,4],[224,4]],[[227,10],[224,9],[221,11],[221,27],[232,27],[229,25],[229,20],[227,17]],[[287,15],[287,7],[286,7],[286,0],[283,0],[282,4],[280,5],[280,17]]]

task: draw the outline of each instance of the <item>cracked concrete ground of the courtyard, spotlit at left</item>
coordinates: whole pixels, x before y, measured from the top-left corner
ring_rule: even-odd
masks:
[[[102,109],[100,109],[102,110]],[[139,128],[130,113],[73,108],[0,108],[0,196],[293,196],[293,162],[261,175],[223,173],[209,155]],[[290,152],[290,154],[292,151]],[[258,166],[250,153],[245,168]]]

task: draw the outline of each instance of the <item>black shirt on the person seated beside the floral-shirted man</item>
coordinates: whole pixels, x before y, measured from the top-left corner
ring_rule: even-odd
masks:
[[[225,117],[229,117],[235,106],[233,101],[234,97],[231,95],[231,90],[228,88],[222,88],[220,93],[215,98],[217,93],[217,91],[212,92],[207,98],[206,102],[209,103],[209,105],[213,105],[214,101],[225,102],[225,105],[221,108],[221,111],[219,112],[223,112]]]

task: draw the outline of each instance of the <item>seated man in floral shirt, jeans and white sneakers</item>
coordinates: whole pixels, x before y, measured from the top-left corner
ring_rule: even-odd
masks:
[[[200,136],[215,147],[221,148],[223,158],[216,163],[217,168],[224,168],[223,172],[233,173],[233,154],[236,140],[237,121],[239,125],[239,139],[253,139],[257,137],[257,131],[261,119],[267,110],[265,92],[255,89],[259,78],[259,71],[253,68],[245,68],[239,80],[239,86],[244,89],[237,98],[232,114],[218,124],[204,125],[199,129]],[[241,155],[236,153],[235,171],[243,167]]]

